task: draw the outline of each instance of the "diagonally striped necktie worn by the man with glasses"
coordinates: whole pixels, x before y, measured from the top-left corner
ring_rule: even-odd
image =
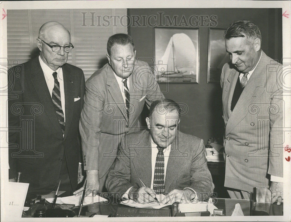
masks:
[[[62,132],[64,134],[65,133],[65,117],[64,117],[64,112],[62,109],[60,83],[58,82],[57,72],[54,72],[53,76],[54,76],[55,84],[54,84],[54,89],[52,93],[52,101],[54,103],[54,108],[56,110],[58,121],[60,123]]]

